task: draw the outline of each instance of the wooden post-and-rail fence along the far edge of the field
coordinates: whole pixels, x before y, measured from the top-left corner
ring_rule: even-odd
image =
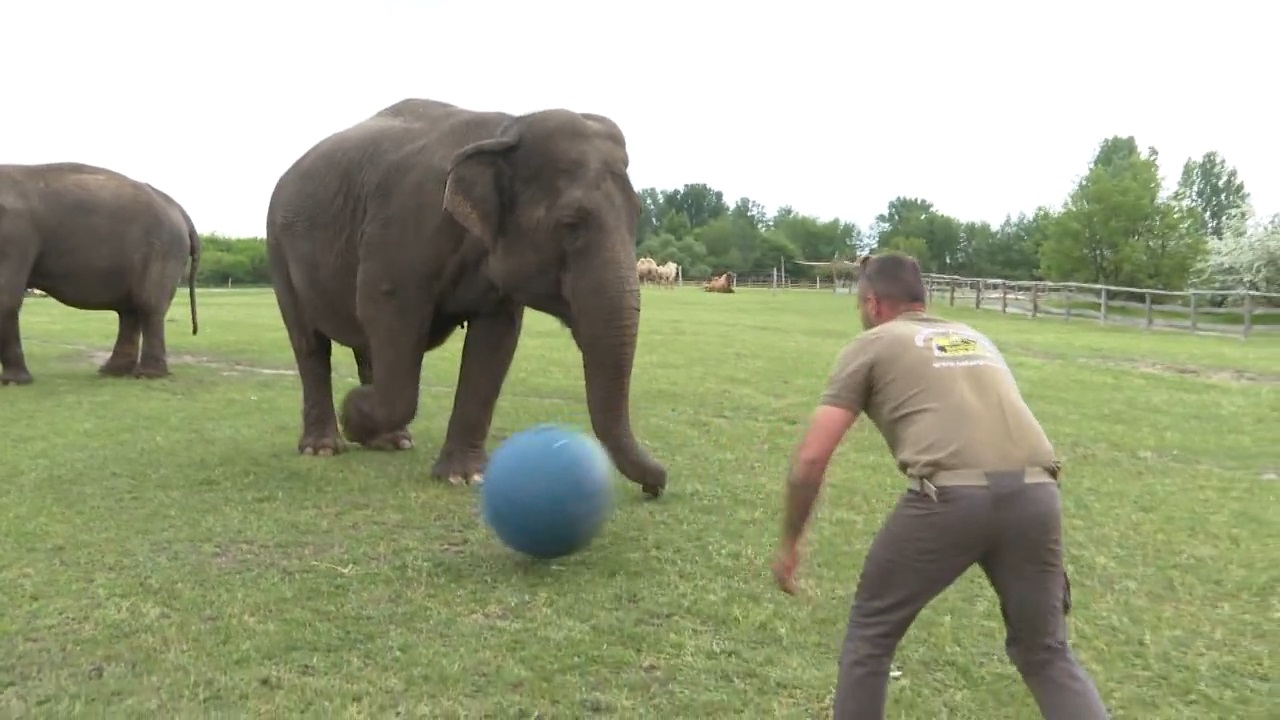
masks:
[[[925,274],[931,302],[964,305],[1029,318],[1056,316],[1064,320],[1092,319],[1103,324],[1166,328],[1190,332],[1280,333],[1280,293],[1251,291],[1167,291],[1087,283],[1051,283],[966,278]],[[681,278],[684,287],[700,287],[704,279]],[[772,275],[739,275],[735,288],[809,290],[852,292],[852,283],[829,278],[792,279]]]

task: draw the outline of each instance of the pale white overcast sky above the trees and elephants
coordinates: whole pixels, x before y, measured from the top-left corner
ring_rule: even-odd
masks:
[[[1098,143],[1169,182],[1217,150],[1280,211],[1267,3],[204,0],[8,3],[0,163],[102,165],[202,233],[262,236],[280,174],[404,97],[600,113],[636,188],[704,182],[870,223],[1059,205]]]

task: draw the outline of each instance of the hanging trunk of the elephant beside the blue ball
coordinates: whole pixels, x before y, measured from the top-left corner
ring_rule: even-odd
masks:
[[[575,272],[568,286],[591,429],[618,470],[646,493],[658,496],[667,486],[667,470],[640,447],[631,429],[640,284],[630,260],[611,261],[608,269],[603,265]]]

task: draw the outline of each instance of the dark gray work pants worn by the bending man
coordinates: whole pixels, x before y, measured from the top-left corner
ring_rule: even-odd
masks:
[[[881,720],[890,662],[920,610],[978,564],[1000,598],[1005,650],[1046,720],[1105,720],[1066,642],[1061,501],[1020,474],[908,491],[867,553],[840,655],[835,720]]]

